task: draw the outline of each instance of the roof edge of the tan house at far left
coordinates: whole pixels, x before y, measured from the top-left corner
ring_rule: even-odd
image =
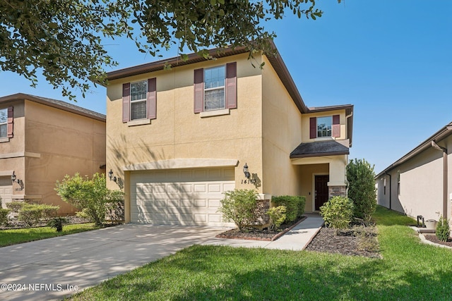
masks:
[[[17,94],[11,94],[8,96],[0,97],[0,103],[1,102],[12,102],[12,101],[23,100],[23,99],[28,99],[32,102],[37,102],[37,103],[44,104],[47,106],[52,106],[54,108],[61,109],[64,111],[69,111],[71,113],[76,113],[78,115],[82,115],[85,117],[94,118],[98,121],[105,121],[104,114],[82,108],[81,106],[76,106],[75,104],[70,104],[69,102],[63,102],[61,100],[35,96],[35,95],[31,95],[31,94],[17,93]]]

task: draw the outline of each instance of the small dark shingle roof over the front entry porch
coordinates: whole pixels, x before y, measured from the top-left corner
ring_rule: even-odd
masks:
[[[305,142],[290,153],[290,158],[306,158],[309,156],[333,156],[350,154],[349,148],[335,140]]]

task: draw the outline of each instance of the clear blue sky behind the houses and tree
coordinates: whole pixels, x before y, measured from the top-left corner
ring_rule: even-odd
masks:
[[[307,106],[354,104],[350,159],[366,159],[379,171],[452,121],[452,1],[317,1],[317,20],[266,24]],[[155,61],[132,42],[108,42],[114,69]],[[162,52],[177,55],[177,49]],[[64,99],[45,80],[36,88],[0,72],[0,95],[18,92]],[[78,105],[105,113],[105,88]]]

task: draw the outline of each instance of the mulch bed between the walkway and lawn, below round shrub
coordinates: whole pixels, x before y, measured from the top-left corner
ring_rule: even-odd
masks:
[[[338,233],[323,226],[306,250],[381,259],[377,233],[376,226],[353,226]]]

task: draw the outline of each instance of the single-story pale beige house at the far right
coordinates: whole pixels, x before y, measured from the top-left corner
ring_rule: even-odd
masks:
[[[425,220],[451,217],[451,154],[449,123],[375,177],[378,204]]]

